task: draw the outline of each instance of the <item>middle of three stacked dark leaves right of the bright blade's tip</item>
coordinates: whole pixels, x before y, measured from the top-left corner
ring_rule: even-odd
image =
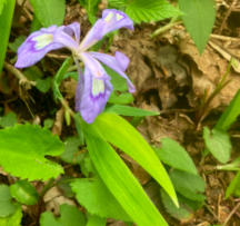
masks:
[[[206,199],[206,196],[201,194],[204,193],[206,183],[199,175],[173,169],[169,176],[174,189],[182,196],[198,202],[203,202]]]

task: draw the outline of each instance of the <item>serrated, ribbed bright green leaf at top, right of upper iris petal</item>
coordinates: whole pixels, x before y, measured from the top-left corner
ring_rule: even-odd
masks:
[[[126,9],[126,13],[134,22],[150,22],[182,14],[166,0],[136,0]]]

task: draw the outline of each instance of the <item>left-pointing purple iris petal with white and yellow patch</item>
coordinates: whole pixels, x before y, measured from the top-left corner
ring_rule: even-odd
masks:
[[[72,51],[78,49],[78,43],[66,33],[64,26],[51,26],[31,33],[18,49],[16,68],[26,68],[41,60],[51,50],[67,47]]]

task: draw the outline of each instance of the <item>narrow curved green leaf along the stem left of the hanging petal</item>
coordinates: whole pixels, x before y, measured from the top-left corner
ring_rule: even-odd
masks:
[[[57,99],[63,99],[61,92],[59,91],[59,86],[60,86],[62,79],[64,78],[64,75],[66,75],[68,68],[72,65],[72,62],[73,62],[72,58],[70,58],[70,57],[67,58],[53,78],[52,88],[53,88],[53,96],[54,96],[56,101],[57,101]]]

